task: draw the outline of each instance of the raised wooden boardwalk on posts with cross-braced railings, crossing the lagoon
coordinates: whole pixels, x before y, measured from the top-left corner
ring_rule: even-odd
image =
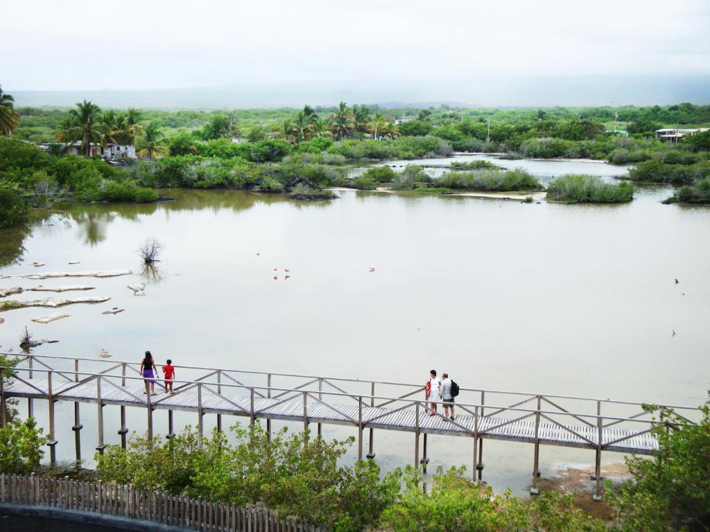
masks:
[[[17,356],[17,355],[16,355]],[[82,367],[83,366],[83,367]],[[97,450],[104,450],[103,407],[120,406],[121,445],[126,446],[126,408],[143,409],[148,416],[148,437],[153,438],[153,412],[168,411],[168,436],[172,436],[173,411],[197,414],[197,427],[203,433],[203,416],[241,416],[254,423],[266,420],[296,421],[307,430],[317,424],[353,426],[357,430],[358,458],[363,458],[364,431],[368,430],[368,458],[374,458],[373,434],[376,430],[405,431],[415,435],[415,465],[427,463],[427,435],[463,436],[473,442],[474,476],[481,480],[483,440],[508,440],[532,444],[534,465],[532,492],[537,492],[540,445],[564,445],[594,450],[597,494],[601,472],[601,453],[652,454],[657,441],[652,428],[657,421],[643,404],[551,394],[503,392],[461,388],[456,399],[455,421],[445,419],[441,404],[432,411],[425,401],[424,387],[400,382],[363,381],[312,375],[288,375],[205,367],[177,367],[178,375],[189,379],[175,381],[175,394],[167,394],[159,385],[154,396],[145,393],[135,362],[67,357],[20,355],[15,377],[0,385],[1,409],[9,398],[28,399],[28,414],[33,415],[33,401],[48,401],[50,457],[55,460],[55,402],[74,404],[75,450],[80,460],[80,404],[96,404]],[[81,371],[80,371],[81,367]],[[184,378],[184,377],[183,377]],[[285,384],[273,386],[280,379]],[[266,380],[265,383],[263,381]],[[256,381],[256,383],[255,383]],[[376,394],[378,390],[385,389]],[[497,404],[491,404],[491,397]],[[512,399],[511,399],[512,398]],[[488,402],[486,402],[488,400]],[[510,401],[514,401],[510,404]],[[697,408],[672,408],[684,416],[698,416]],[[4,417],[4,415],[3,415]],[[4,423],[5,420],[3,419]],[[420,459],[420,436],[423,453]]]

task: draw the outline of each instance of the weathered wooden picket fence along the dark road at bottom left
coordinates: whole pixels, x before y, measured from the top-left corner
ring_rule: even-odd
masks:
[[[292,519],[278,519],[268,509],[251,509],[131,486],[102,482],[0,474],[0,503],[76,510],[162,525],[219,532],[324,532]]]

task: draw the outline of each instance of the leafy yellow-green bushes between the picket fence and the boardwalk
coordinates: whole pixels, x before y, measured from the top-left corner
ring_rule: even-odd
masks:
[[[231,431],[234,445],[214,431],[200,448],[189,427],[170,440],[154,440],[152,448],[147,438],[135,437],[128,450],[109,445],[97,455],[99,478],[208,501],[263,503],[280,516],[342,532],[378,523],[398,491],[396,477],[381,481],[373,460],[338,465],[353,438],[309,440],[284,429],[270,442],[259,426]]]

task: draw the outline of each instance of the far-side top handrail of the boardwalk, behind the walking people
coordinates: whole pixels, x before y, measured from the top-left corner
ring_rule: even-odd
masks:
[[[102,360],[102,359],[97,359],[97,358],[77,358],[77,357],[65,357],[65,356],[58,356],[58,355],[19,355],[18,353],[0,353],[0,355],[10,355],[10,356],[26,356],[32,357],[32,358],[49,358],[49,359],[58,359],[58,360],[86,360],[89,362],[102,362],[102,363],[119,363],[119,364],[128,364],[128,365],[138,365],[138,363],[135,360]],[[26,360],[26,359],[25,359]],[[384,384],[386,386],[404,386],[404,387],[417,387],[420,388],[422,387],[422,384],[410,384],[406,382],[389,382],[389,381],[378,381],[378,380],[371,380],[371,379],[352,379],[352,378],[347,378],[347,377],[323,377],[322,375],[307,375],[307,374],[290,374],[290,373],[275,373],[275,372],[264,372],[264,371],[254,371],[254,370],[229,370],[229,369],[224,369],[224,368],[216,368],[216,367],[202,367],[202,366],[180,366],[180,365],[175,365],[175,368],[180,368],[183,370],[204,370],[204,371],[220,371],[220,372],[231,372],[231,373],[244,373],[246,375],[263,375],[263,376],[269,376],[271,375],[276,376],[276,377],[295,377],[295,378],[302,378],[302,379],[323,379],[323,380],[333,380],[333,381],[342,381],[342,382],[360,382],[360,383],[375,383],[375,384]],[[57,372],[65,372],[65,373],[71,373],[65,370],[55,370]],[[177,382],[177,381],[175,381]],[[226,384],[222,384],[223,386],[226,386]],[[264,388],[260,388],[264,389]],[[268,388],[267,388],[268,389]],[[599,397],[578,397],[578,396],[572,396],[572,395],[559,395],[559,394],[541,394],[538,392],[514,392],[510,390],[496,390],[496,389],[483,389],[483,388],[460,388],[462,392],[484,392],[486,394],[505,394],[505,395],[520,395],[520,396],[532,396],[532,397],[537,397],[538,395],[542,397],[551,397],[555,399],[571,399],[574,401],[601,401],[603,403],[608,403],[608,404],[626,404],[630,406],[643,406],[644,404],[649,404],[649,403],[643,403],[643,402],[638,402],[638,401],[621,401],[618,399],[601,399]],[[363,395],[365,397],[366,394]],[[371,397],[371,396],[367,396]],[[696,406],[679,406],[679,405],[671,405],[671,404],[656,404],[652,403],[655,406],[658,406],[659,408],[666,408],[666,409],[684,409],[684,410],[697,410]],[[488,405],[484,405],[486,408],[489,408]],[[496,406],[490,406],[490,408],[500,408]]]

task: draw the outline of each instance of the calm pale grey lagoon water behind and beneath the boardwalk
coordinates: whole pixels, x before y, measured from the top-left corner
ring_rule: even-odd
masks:
[[[569,171],[560,164],[546,162],[540,174]],[[587,173],[620,173],[577,164]],[[671,192],[639,189],[632,203],[616,206],[354,191],[296,202],[197,190],[165,191],[176,201],[155,205],[64,204],[24,233],[0,232],[5,255],[24,247],[21,263],[1,274],[135,272],[138,244],[155,236],[165,243],[159,277],[143,279],[145,297],[126,288],[140,275],[2,279],[1,287],[92,284],[97,289],[80,295],[111,300],[67,306],[72,316],[48,325],[31,318],[55,310],[4,312],[0,344],[18,351],[28,326],[37,338],[60,340],[37,354],[98,358],[106,350],[137,364],[150,349],[178,365],[422,383],[435,367],[461,387],[697,405],[710,372],[710,209],[660,204]],[[74,260],[80,265],[68,265]],[[45,294],[52,295],[11,299]],[[101,314],[113,306],[126,311]],[[42,422],[44,409],[35,404]],[[71,412],[58,405],[61,459],[73,455]],[[145,414],[129,414],[131,428],[144,430]],[[84,457],[91,457],[94,407],[82,407],[82,416]],[[157,431],[164,416],[155,416]],[[116,407],[106,417],[107,443],[117,443]],[[354,431],[326,427],[324,434]],[[431,466],[470,467],[470,445],[430,437]],[[410,463],[413,436],[378,431],[376,451],[386,469]],[[543,447],[542,474],[593,460],[590,451]],[[522,493],[532,446],[487,442],[484,462],[496,489]]]

